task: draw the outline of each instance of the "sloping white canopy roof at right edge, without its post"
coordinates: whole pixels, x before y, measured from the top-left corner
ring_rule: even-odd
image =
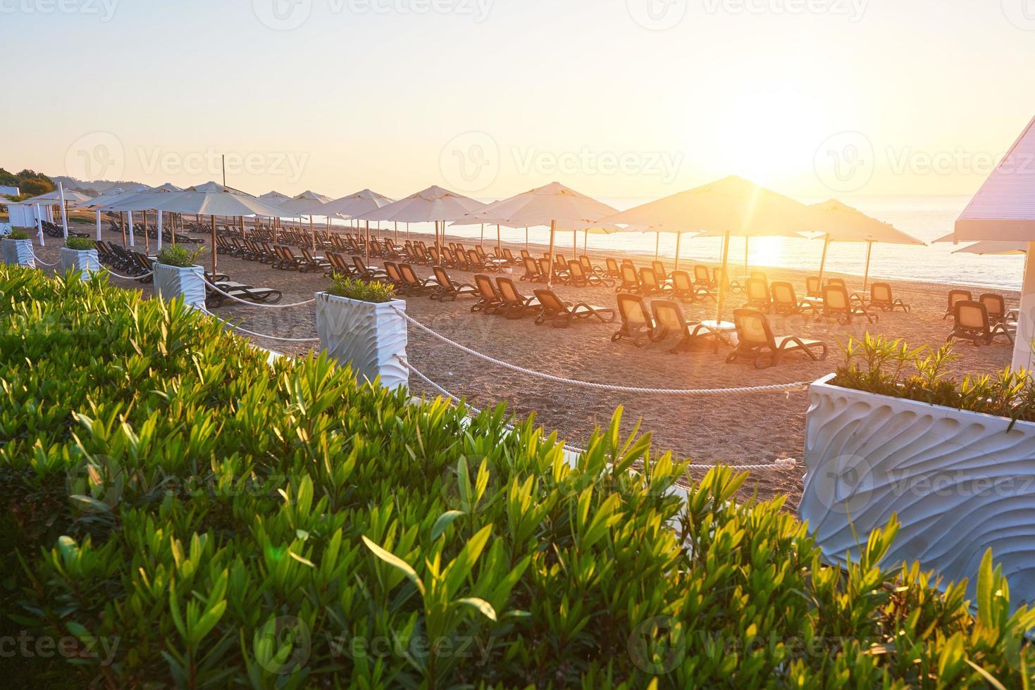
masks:
[[[1035,241],[1035,119],[959,215],[955,239]]]

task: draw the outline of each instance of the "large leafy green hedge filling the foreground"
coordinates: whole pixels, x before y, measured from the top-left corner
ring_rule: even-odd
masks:
[[[990,557],[975,613],[882,564],[894,522],[825,567],[744,476],[674,496],[618,414],[572,467],[502,409],[10,267],[0,369],[12,687],[1013,688],[1035,662]]]

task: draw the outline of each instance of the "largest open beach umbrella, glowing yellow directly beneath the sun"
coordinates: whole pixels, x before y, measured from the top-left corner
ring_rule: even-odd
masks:
[[[736,176],[659,199],[603,218],[610,222],[669,231],[721,234],[722,275],[730,263],[731,237],[801,237],[818,232],[807,206]],[[716,321],[722,320],[727,280],[719,282]]]

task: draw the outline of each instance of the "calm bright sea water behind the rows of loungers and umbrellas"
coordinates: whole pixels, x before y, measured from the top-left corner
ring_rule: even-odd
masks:
[[[986,286],[1005,290],[1019,290],[1024,271],[1024,257],[996,257],[976,254],[954,254],[957,246],[951,243],[929,244],[943,235],[952,232],[956,217],[969,201],[969,197],[845,197],[846,204],[886,222],[898,230],[928,242],[927,246],[898,246],[875,244],[870,259],[869,275],[889,280],[923,280],[950,284]],[[631,208],[649,200],[602,199],[618,209]],[[822,199],[801,200],[806,203]],[[389,227],[390,223],[382,223]],[[400,226],[402,235],[403,226]],[[410,232],[432,234],[431,223],[411,223]],[[485,240],[495,241],[496,227],[485,227]],[[502,229],[504,241],[524,242],[525,231]],[[448,228],[452,236],[477,239],[481,234],[479,226]],[[529,231],[532,242],[545,243],[550,232],[542,228]],[[579,234],[582,247],[583,234]],[[557,246],[570,252],[571,233],[558,233]],[[643,233],[617,233],[613,235],[590,235],[589,250],[619,249],[652,253],[655,235]],[[562,249],[563,250],[563,249]],[[662,234],[658,246],[659,254],[669,261],[676,253],[674,235]],[[716,262],[720,258],[721,240],[717,238],[692,239],[684,236],[680,246],[680,264],[694,260]],[[759,238],[748,243],[748,263],[751,267],[775,266],[780,268],[819,268],[823,252],[822,240]],[[731,262],[735,267],[744,264],[744,241],[735,238],[730,248]],[[827,270],[861,276],[865,268],[865,244],[832,243],[827,253]],[[689,264],[686,265],[689,265]]]

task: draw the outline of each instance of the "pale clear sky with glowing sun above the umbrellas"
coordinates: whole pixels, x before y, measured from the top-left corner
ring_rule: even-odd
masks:
[[[973,192],[1035,0],[0,0],[0,166],[263,193]]]

